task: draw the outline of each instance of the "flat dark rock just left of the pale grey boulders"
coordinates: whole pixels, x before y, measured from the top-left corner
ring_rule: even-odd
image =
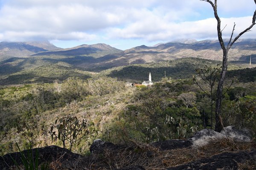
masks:
[[[189,140],[166,140],[163,142],[151,143],[154,147],[159,147],[161,150],[172,150],[178,148],[190,147],[192,142]]]

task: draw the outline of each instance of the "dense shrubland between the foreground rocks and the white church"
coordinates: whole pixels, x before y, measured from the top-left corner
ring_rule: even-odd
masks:
[[[186,139],[215,123],[211,106],[216,87],[212,86],[211,96],[209,84],[200,78],[196,82],[192,78],[162,79],[151,87],[125,88],[117,79],[96,75],[87,80],[70,77],[53,83],[2,87],[0,153],[17,151],[15,143],[21,148],[62,146],[56,130],[68,115],[86,123],[86,135],[75,132],[76,139],[81,139],[72,144],[72,150],[82,154],[97,138],[119,144]],[[227,79],[222,124],[247,127],[255,133],[255,82],[233,82],[229,87],[230,82]],[[51,127],[56,131],[52,139]]]

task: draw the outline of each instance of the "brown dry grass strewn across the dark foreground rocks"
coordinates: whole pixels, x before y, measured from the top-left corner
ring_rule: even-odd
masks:
[[[236,143],[230,139],[198,149],[182,148],[175,150],[160,150],[148,144],[131,144],[119,150],[105,150],[101,154],[92,154],[73,162],[64,162],[58,169],[73,170],[114,170],[116,168],[140,165],[146,170],[161,170],[185,164],[190,161],[214,156],[224,152],[239,152],[240,150],[256,149],[256,143]],[[253,170],[255,165],[250,162],[239,164],[240,169]]]

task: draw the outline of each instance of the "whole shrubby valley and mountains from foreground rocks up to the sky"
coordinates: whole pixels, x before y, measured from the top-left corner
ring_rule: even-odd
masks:
[[[241,40],[230,51],[220,115],[224,127],[249,129],[252,141],[256,133],[255,44],[255,40]],[[217,83],[211,94],[199,75],[208,79],[209,72],[216,71],[218,80],[221,50],[217,41],[168,42],[125,51],[106,44],[62,49],[47,42],[2,42],[0,54],[0,155],[18,151],[17,146],[57,145],[94,159],[89,150],[95,139],[117,146],[135,144],[134,155],[148,154],[152,148],[147,144],[152,142],[186,140],[214,128]],[[153,85],[125,87],[125,82],[148,80],[149,72]],[[81,139],[73,145],[63,145],[58,135],[54,137],[67,118],[84,122],[85,135],[77,133]],[[209,151],[212,155],[237,147],[232,142],[223,147],[221,142]],[[155,150],[154,154],[165,153]],[[204,158],[190,150],[194,157],[188,162]]]

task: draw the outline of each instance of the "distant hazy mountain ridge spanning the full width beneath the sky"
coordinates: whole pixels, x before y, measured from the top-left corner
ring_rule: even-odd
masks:
[[[255,63],[256,39],[238,40],[229,51],[230,61],[248,61],[249,63],[248,57],[250,56],[252,56],[252,63]],[[16,59],[7,60],[12,57],[16,57]],[[35,63],[44,65],[62,62],[74,68],[99,72],[131,64],[161,62],[186,57],[221,60],[223,56],[218,40],[180,39],[152,47],[140,45],[125,51],[103,43],[58,48],[49,42],[0,42],[0,66],[3,64],[15,65],[14,63],[17,63],[20,57],[23,58],[26,67],[35,66]],[[26,62],[29,60],[24,58],[32,58],[34,64]]]

